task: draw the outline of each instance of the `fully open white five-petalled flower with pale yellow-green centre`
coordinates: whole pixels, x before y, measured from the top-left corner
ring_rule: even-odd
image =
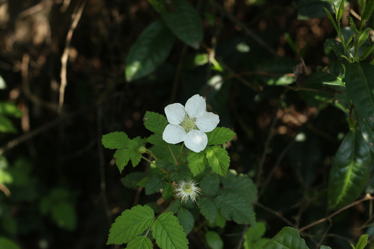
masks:
[[[206,111],[206,102],[196,94],[189,98],[186,107],[182,104],[169,104],[165,107],[168,126],[163,131],[162,138],[168,143],[184,142],[192,151],[199,152],[208,144],[205,132],[213,131],[220,122],[220,117]]]

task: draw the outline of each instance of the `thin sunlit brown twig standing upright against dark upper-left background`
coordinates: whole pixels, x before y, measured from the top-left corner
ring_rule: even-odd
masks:
[[[66,80],[66,71],[67,71],[67,61],[69,59],[69,52],[70,52],[70,45],[71,45],[71,37],[73,37],[73,33],[75,28],[78,26],[78,22],[80,20],[80,17],[82,17],[82,12],[84,9],[84,6],[86,5],[86,1],[82,1],[79,8],[75,8],[75,11],[73,13],[73,22],[71,23],[69,32],[66,35],[66,44],[64,48],[64,53],[62,53],[61,56],[61,83],[60,83],[60,100],[58,102],[58,112],[61,113],[62,106],[64,105],[64,94],[65,94],[65,88],[67,84]]]

